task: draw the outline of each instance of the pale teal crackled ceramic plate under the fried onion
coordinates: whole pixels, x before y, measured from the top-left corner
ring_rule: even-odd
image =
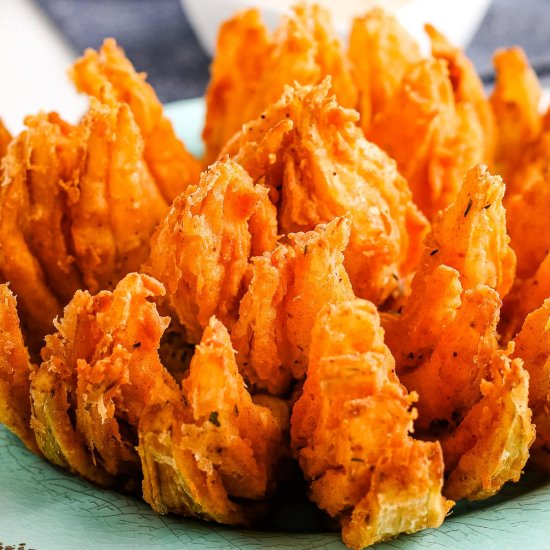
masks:
[[[204,106],[200,100],[172,104],[169,115],[196,154]],[[278,532],[251,532],[159,516],[145,503],[89,483],[28,452],[0,427],[0,548],[343,549],[337,533],[316,529],[303,502],[280,499],[272,524]],[[307,532],[309,531],[309,532]],[[317,532],[316,532],[317,531]],[[24,546],[23,546],[24,544]],[[550,548],[550,480],[526,475],[498,496],[461,504],[437,530],[401,536],[377,548],[516,549]]]

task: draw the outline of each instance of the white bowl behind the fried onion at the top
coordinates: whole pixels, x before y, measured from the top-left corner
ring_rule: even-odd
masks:
[[[339,0],[331,0],[337,3]],[[352,0],[357,5],[361,3],[374,4],[374,1]],[[231,17],[235,12],[258,7],[262,11],[262,16],[266,25],[273,29],[280,21],[281,15],[288,12],[288,6],[296,2],[281,0],[279,4],[270,0],[181,0],[183,8],[199,42],[205,51],[213,55],[216,47],[216,38],[218,28],[223,21]],[[328,3],[328,0],[323,2]],[[376,2],[379,5],[388,4],[382,1]],[[475,31],[479,27],[491,0],[401,0],[395,2],[394,9],[391,11],[409,31],[409,33],[418,40],[423,50],[427,53],[428,42],[424,34],[424,24],[430,23],[442,32],[453,44],[466,47],[472,39]],[[368,7],[363,10],[367,11]],[[359,14],[361,10],[359,11]],[[338,34],[345,39],[347,37],[350,20],[337,17],[334,19]]]

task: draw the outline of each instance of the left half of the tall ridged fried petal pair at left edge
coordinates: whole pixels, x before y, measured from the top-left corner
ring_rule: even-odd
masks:
[[[33,351],[53,329],[63,303],[81,288],[70,250],[64,187],[80,144],[76,129],[55,114],[26,120],[29,128],[4,158],[0,189],[0,275],[19,297]]]

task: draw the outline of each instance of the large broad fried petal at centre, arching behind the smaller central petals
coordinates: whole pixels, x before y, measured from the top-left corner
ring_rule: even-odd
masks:
[[[270,187],[283,233],[350,212],[346,270],[358,296],[381,303],[416,267],[427,222],[395,163],[329,92],[328,81],[287,88],[226,151]]]

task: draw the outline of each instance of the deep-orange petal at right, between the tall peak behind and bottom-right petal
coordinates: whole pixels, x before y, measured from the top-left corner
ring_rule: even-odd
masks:
[[[421,307],[414,313],[407,311],[403,318],[403,324],[409,322],[407,339],[400,346],[399,357],[396,354],[401,380],[420,395],[417,425],[425,430],[441,423],[454,426],[479,401],[480,383],[489,373],[489,359],[497,345],[498,294],[479,285],[461,296],[456,271],[449,287],[444,287],[449,275],[449,268],[440,266],[427,278],[427,288],[434,294],[440,287],[447,293],[450,288],[458,290],[451,303],[459,301],[460,305],[454,311],[438,311],[436,319],[442,324],[437,327],[433,318],[422,317],[427,312]],[[438,296],[437,302],[440,300]],[[432,308],[433,304],[427,306]],[[426,327],[431,329],[429,333]]]

